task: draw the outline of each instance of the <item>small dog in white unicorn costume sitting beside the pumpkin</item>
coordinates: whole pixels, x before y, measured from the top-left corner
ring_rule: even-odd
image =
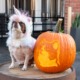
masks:
[[[14,7],[14,12],[8,23],[9,37],[7,46],[9,48],[11,65],[15,67],[15,61],[23,64],[22,70],[27,70],[29,60],[33,58],[33,49],[36,40],[31,37],[32,19],[27,14],[21,13]]]

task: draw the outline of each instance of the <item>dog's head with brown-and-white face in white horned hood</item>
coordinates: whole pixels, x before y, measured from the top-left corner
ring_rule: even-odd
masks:
[[[27,13],[22,13],[14,7],[14,14],[9,18],[8,30],[9,35],[15,38],[21,38],[24,35],[32,34],[32,19]]]

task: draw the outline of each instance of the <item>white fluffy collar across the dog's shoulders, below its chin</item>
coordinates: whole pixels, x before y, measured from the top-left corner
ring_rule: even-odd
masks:
[[[29,47],[33,50],[35,42],[36,40],[32,38],[31,36],[24,36],[21,39],[13,39],[12,37],[9,37],[7,39],[7,46],[12,46],[16,48],[19,48],[20,46]]]

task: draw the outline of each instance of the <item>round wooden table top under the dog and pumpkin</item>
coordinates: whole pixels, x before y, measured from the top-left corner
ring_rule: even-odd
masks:
[[[69,68],[61,73],[44,73],[34,67],[29,67],[27,71],[22,71],[16,67],[9,69],[10,63],[0,65],[0,80],[76,80],[74,68]]]

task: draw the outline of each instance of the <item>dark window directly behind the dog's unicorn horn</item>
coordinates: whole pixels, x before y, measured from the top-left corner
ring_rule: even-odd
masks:
[[[20,10],[29,11],[31,13],[31,0],[7,0],[6,13],[8,15],[13,13],[13,5]]]

